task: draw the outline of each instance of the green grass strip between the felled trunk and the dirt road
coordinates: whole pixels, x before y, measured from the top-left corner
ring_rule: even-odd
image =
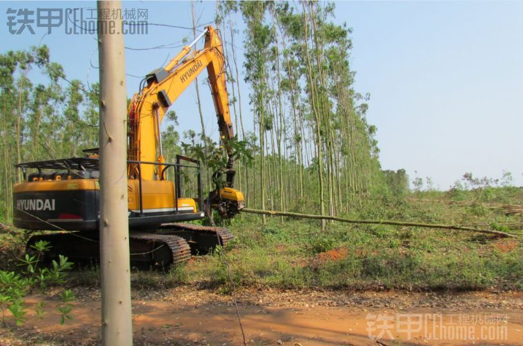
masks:
[[[340,225],[318,234],[310,233],[307,223],[290,223],[285,229],[278,229],[275,220],[266,227],[241,227],[238,245],[226,255],[237,283],[335,289],[523,288],[520,245],[504,253],[491,241],[480,243],[470,234]],[[250,238],[250,244],[242,238]],[[326,251],[343,256],[319,256]],[[227,285],[215,261],[213,256],[198,258],[186,267],[187,277]]]

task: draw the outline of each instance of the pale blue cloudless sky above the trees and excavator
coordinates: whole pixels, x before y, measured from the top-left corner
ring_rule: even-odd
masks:
[[[336,1],[335,21],[353,28],[351,63],[357,91],[371,93],[368,122],[377,125],[384,169],[405,168],[448,188],[464,172],[499,178],[512,172],[523,185],[523,2]],[[86,2],[0,2],[8,8],[95,8]],[[199,23],[213,21],[215,3],[197,3]],[[191,26],[190,3],[124,1],[124,8],[148,9],[149,23]],[[241,17],[237,26],[243,29]],[[0,28],[1,52],[46,43],[68,78],[97,81],[94,34],[67,35],[64,28],[34,28],[12,35]],[[150,26],[147,35],[126,35],[126,46],[147,48],[192,38],[179,28]],[[240,45],[238,38],[236,45]],[[143,76],[180,48],[126,50],[129,74]],[[242,50],[238,50],[240,55]],[[201,83],[206,130],[217,139],[208,87]],[[128,94],[139,79],[128,77]],[[248,85],[242,96],[247,101]],[[244,102],[244,114],[249,111]],[[199,129],[195,88],[172,106],[180,132]],[[252,119],[249,114],[247,119]],[[417,174],[415,173],[417,172]]]

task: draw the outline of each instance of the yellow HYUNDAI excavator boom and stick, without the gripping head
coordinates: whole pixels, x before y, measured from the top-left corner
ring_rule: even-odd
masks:
[[[189,55],[191,45],[202,36],[205,36],[204,49]],[[162,162],[161,121],[170,105],[205,69],[208,72],[219,132],[224,139],[233,139],[233,123],[230,121],[226,88],[226,62],[221,41],[212,26],[207,27],[199,38],[181,50],[164,68],[150,72],[145,79],[146,86],[133,96],[129,109],[129,159]],[[144,167],[142,178],[157,179],[157,174],[154,167]]]

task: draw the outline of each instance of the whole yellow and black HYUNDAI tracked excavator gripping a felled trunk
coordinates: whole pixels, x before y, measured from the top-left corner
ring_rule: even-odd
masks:
[[[203,36],[204,49],[189,54]],[[191,252],[208,252],[233,238],[226,228],[180,223],[199,220],[213,210],[230,218],[244,207],[243,194],[233,188],[235,154],[227,144],[234,133],[225,63],[219,36],[208,26],[165,67],[147,74],[130,101],[127,179],[132,265],[168,267],[184,263]],[[215,181],[224,175],[224,183],[216,183],[205,200],[199,161],[177,155],[176,163],[166,163],[160,131],[170,105],[204,69],[228,156],[226,167],[214,175]],[[99,158],[96,149],[85,152],[89,154],[86,157],[16,165],[23,172],[23,182],[14,185],[14,225],[26,230],[66,231],[32,236],[28,250],[45,240],[52,246],[50,256],[63,254],[73,261],[99,256]],[[181,170],[197,173],[197,195],[193,198],[181,196]]]

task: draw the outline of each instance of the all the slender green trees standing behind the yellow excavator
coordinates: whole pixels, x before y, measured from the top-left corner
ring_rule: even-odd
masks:
[[[386,178],[380,169],[376,128],[366,121],[369,96],[353,88],[351,29],[333,23],[333,10],[316,1],[217,3],[233,123],[249,153],[237,161],[235,187],[249,207],[337,216],[386,192],[391,182],[407,188],[405,174]],[[49,57],[46,46],[0,54],[0,212],[6,218],[20,179],[15,163],[97,147],[98,85],[67,79]],[[32,83],[36,73],[44,82]],[[242,79],[249,90],[240,87]],[[168,119],[167,159],[185,152],[209,163],[219,151],[203,120],[201,128],[179,134],[173,112]],[[208,170],[205,176],[209,188]]]

